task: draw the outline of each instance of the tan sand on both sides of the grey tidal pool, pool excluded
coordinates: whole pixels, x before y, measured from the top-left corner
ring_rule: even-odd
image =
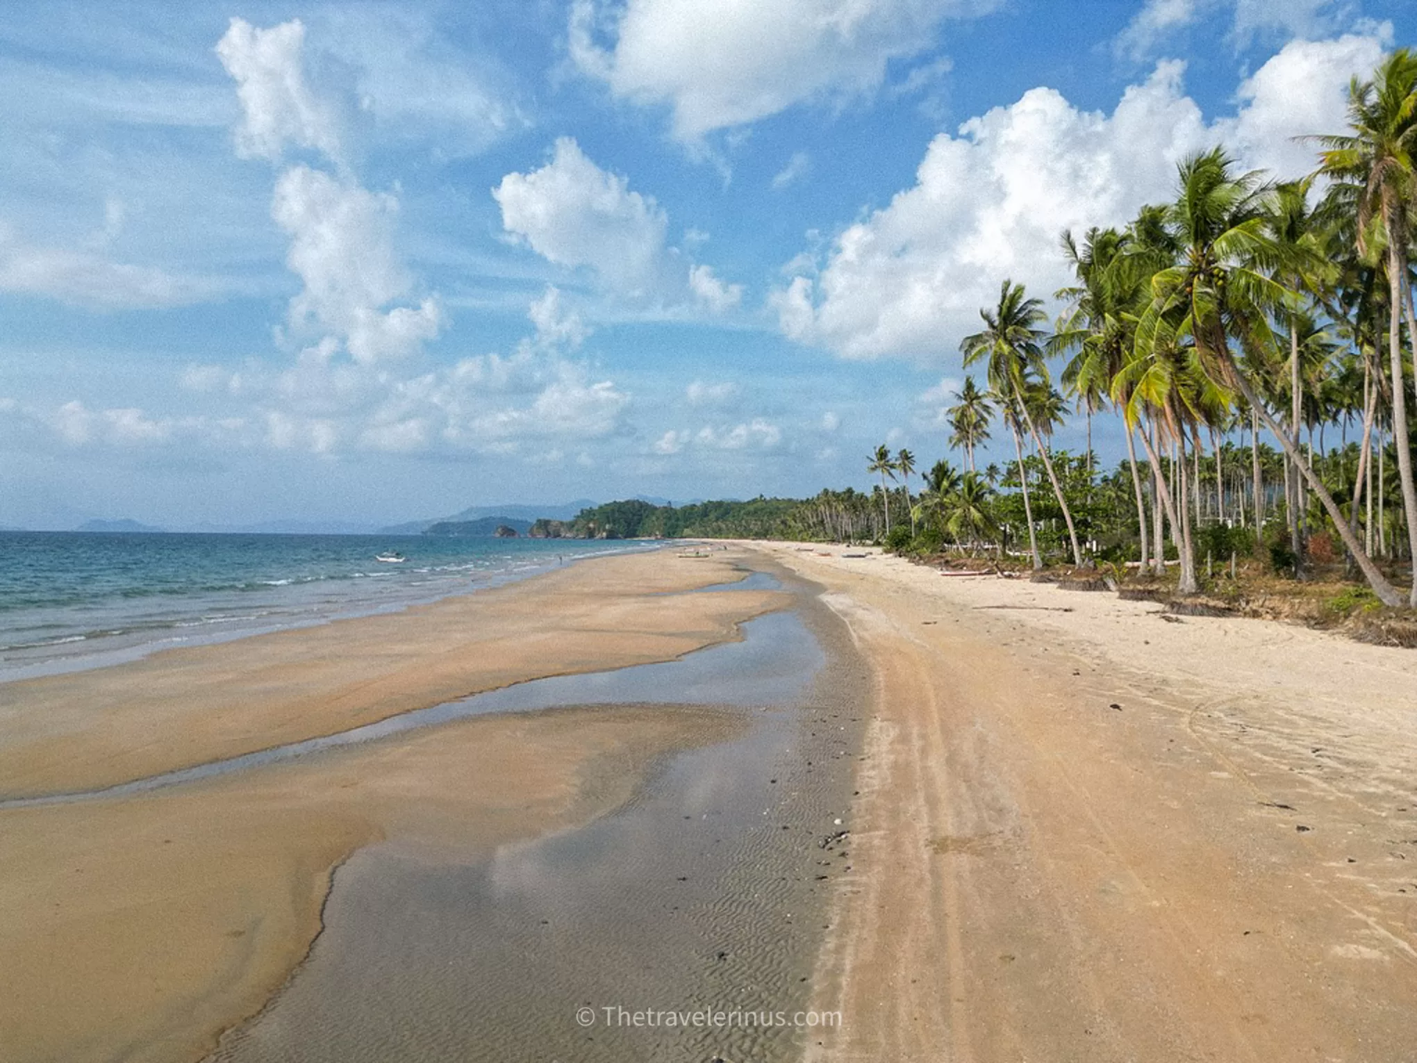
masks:
[[[408,614],[10,685],[0,778],[108,785],[516,679],[674,658],[791,598],[676,591],[768,558],[823,588],[846,628],[819,625],[833,662],[819,685],[842,719],[802,717],[830,744],[803,746],[798,771],[849,772],[864,753],[849,857],[819,849],[825,798],[791,831],[761,821],[798,846],[781,873],[801,865],[802,896],[822,897],[803,992],[840,1025],[803,1037],[808,1059],[1411,1057],[1417,655],[843,553],[599,558]],[[862,726],[857,710],[863,751],[828,730]],[[743,726],[656,706],[476,717],[125,799],[0,809],[0,1059],[200,1057],[306,955],[350,853],[397,839],[475,862],[578,829],[632,801],[665,754],[733,748]],[[819,778],[789,774],[752,785]],[[751,911],[743,882],[724,903]],[[778,933],[764,928],[767,955]],[[733,962],[721,989],[743,994]]]

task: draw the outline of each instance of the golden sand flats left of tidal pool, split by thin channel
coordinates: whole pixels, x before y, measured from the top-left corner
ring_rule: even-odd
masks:
[[[724,560],[597,558],[404,614],[159,653],[3,689],[4,797],[91,789],[533,676],[731,639],[771,591]],[[388,836],[487,853],[622,804],[711,714],[469,719],[123,799],[0,809],[0,1059],[190,1060],[320,928],[332,869]]]

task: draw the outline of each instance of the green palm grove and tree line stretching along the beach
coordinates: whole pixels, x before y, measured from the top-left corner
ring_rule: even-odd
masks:
[[[961,343],[968,376],[938,441],[955,458],[918,490],[915,455],[881,444],[863,462],[870,492],[682,507],[635,527],[1105,563],[1173,575],[1180,594],[1217,561],[1298,580],[1342,567],[1365,595],[1417,607],[1417,55],[1355,79],[1348,129],[1309,142],[1309,174],[1278,181],[1216,146],[1180,162],[1169,201],[1060,234],[1074,279],[1047,293],[1053,320],[1000,278]],[[1070,408],[1085,417],[1081,452],[1054,446]],[[1093,449],[1108,415],[1125,441],[1112,469]],[[1012,458],[981,469],[993,438]]]

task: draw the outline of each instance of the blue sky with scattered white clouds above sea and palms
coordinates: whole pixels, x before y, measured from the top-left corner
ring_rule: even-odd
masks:
[[[176,10],[0,4],[0,524],[928,465],[1005,276],[1216,142],[1305,171],[1413,4]]]

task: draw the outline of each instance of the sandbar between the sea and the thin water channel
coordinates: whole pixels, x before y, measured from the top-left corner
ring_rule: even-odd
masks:
[[[733,638],[738,622],[782,602],[743,591],[680,608],[673,594],[731,581],[734,568],[666,551],[636,566],[640,557],[587,558],[594,566],[394,614],[7,683],[3,797],[103,789],[527,679],[667,660]],[[553,611],[554,631],[541,622]]]

